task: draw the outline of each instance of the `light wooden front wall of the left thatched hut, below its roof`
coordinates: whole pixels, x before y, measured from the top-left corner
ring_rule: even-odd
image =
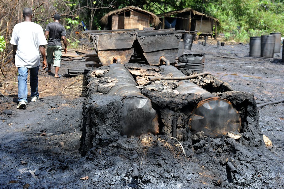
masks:
[[[133,29],[150,27],[150,16],[133,10],[112,15],[111,29]]]

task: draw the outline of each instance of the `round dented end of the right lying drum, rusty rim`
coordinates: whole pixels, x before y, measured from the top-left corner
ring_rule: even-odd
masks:
[[[240,131],[240,114],[226,99],[207,98],[192,111],[190,128],[193,132],[203,131],[206,136],[218,138],[230,131]]]

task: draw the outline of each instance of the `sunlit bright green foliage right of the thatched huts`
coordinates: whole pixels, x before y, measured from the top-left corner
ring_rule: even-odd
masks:
[[[183,5],[216,17],[225,40],[247,43],[252,36],[284,33],[283,0],[184,0]]]

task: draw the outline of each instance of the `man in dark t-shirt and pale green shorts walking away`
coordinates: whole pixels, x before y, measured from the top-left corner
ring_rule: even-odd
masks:
[[[51,64],[55,67],[55,75],[54,77],[59,78],[61,75],[58,74],[61,60],[61,39],[63,44],[65,45],[64,54],[67,53],[67,40],[65,28],[63,25],[59,24],[60,15],[54,15],[54,22],[49,23],[45,29],[45,38],[48,38],[48,46],[47,46],[47,64],[48,70],[47,72],[51,72]],[[53,53],[54,53],[54,61],[53,61]]]

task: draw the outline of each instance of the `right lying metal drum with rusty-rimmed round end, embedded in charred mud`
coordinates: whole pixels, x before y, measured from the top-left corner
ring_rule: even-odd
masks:
[[[162,65],[161,67],[163,67],[163,75],[185,76],[174,66]],[[240,114],[231,102],[213,95],[189,79],[177,80],[177,82],[179,86],[175,90],[179,93],[194,93],[204,98],[189,116],[189,126],[193,132],[203,131],[206,136],[217,138],[230,131],[240,131]]]

